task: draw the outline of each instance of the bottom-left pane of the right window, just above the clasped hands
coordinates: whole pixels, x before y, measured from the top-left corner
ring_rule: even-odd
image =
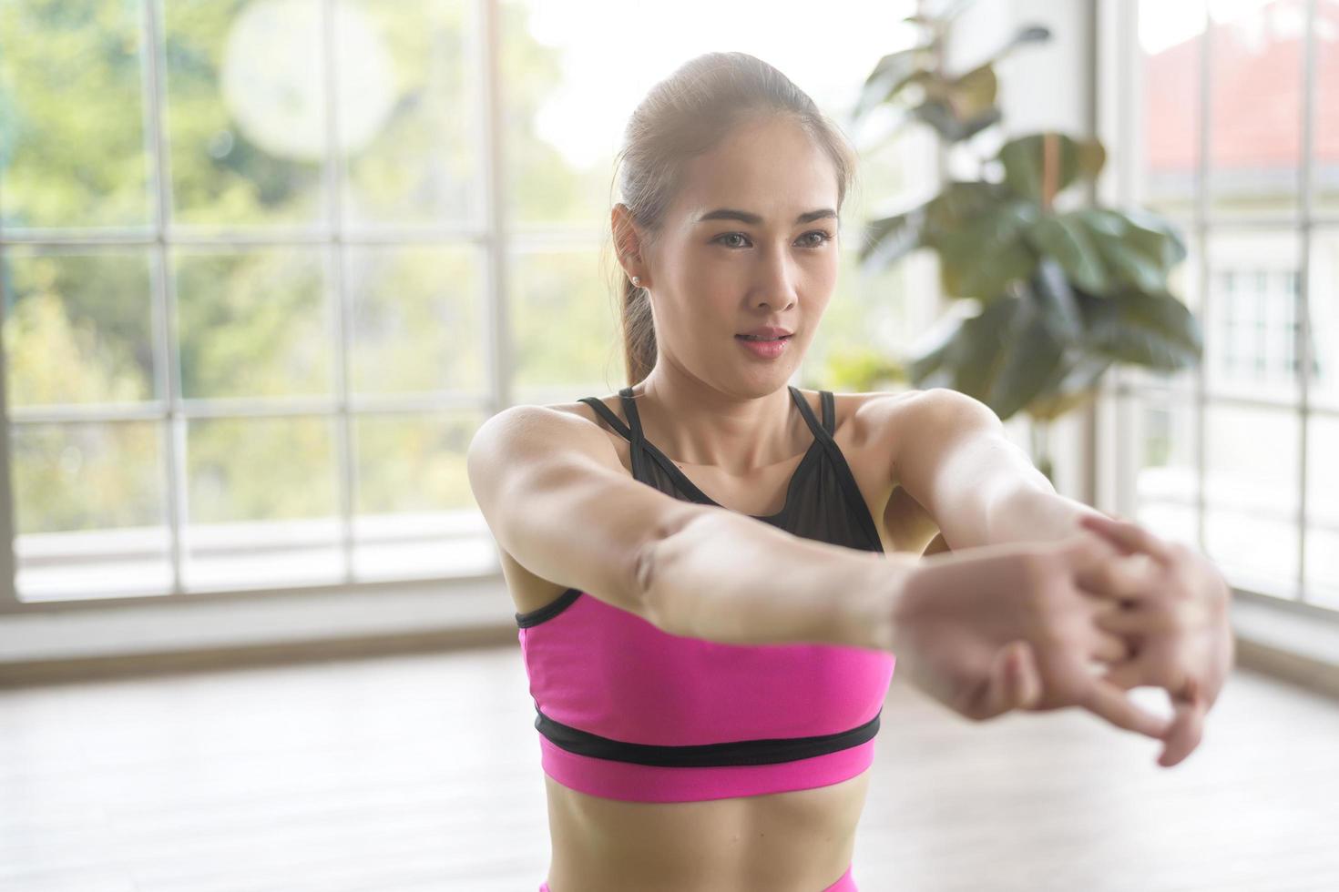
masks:
[[[1135,500],[1193,506],[1196,481],[1194,403],[1154,393],[1134,400],[1139,444]]]

